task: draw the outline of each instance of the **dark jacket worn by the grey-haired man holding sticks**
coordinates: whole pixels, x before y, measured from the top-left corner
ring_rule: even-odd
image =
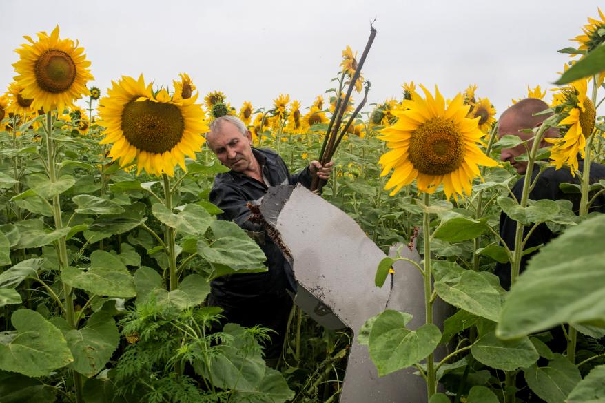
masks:
[[[260,163],[263,176],[269,185],[301,185],[311,186],[311,173],[309,167],[298,174],[290,175],[283,159],[269,149],[252,148],[252,153]],[[271,241],[271,238],[259,224],[248,221],[250,215],[246,203],[260,200],[267,192],[267,185],[258,180],[229,171],[218,174],[209,194],[214,205],[223,210],[218,215],[221,220],[234,221],[237,225],[248,231],[260,245],[267,256],[265,265],[269,270],[265,273],[246,273],[221,276],[212,281],[212,298],[223,305],[235,306],[245,303],[247,298],[276,294],[292,287],[293,280],[288,278],[286,271],[289,265],[282,252]]]

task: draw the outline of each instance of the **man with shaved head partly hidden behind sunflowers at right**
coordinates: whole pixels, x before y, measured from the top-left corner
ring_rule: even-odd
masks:
[[[533,129],[534,127],[538,127],[542,124],[542,121],[546,119],[548,114],[534,116],[537,112],[542,112],[543,110],[548,109],[548,105],[544,101],[540,99],[528,98],[515,105],[509,107],[502,116],[500,116],[500,121],[498,121],[498,137],[501,138],[506,134],[512,134],[514,136],[519,136],[522,140],[529,140],[533,136],[532,133],[520,132],[520,130],[524,129]],[[548,129],[546,132],[547,137],[557,137],[558,131],[554,128]],[[548,146],[549,143],[543,141],[542,147]],[[531,149],[531,143],[527,145],[529,149]],[[527,174],[527,162],[526,161],[516,161],[515,157],[520,156],[526,152],[525,147],[521,145],[517,145],[514,148],[502,149],[501,159],[502,161],[509,161],[513,167],[517,170],[518,174]],[[582,172],[584,168],[584,161],[578,158],[578,169]],[[535,176],[540,172],[540,168],[536,165],[534,166],[532,174],[532,178],[535,179]],[[591,164],[591,182],[599,182],[600,179],[605,178],[605,166],[599,163]],[[523,182],[524,178],[521,177],[517,180],[517,183],[513,186],[512,193],[515,195],[517,200],[521,200],[521,195],[523,192]],[[573,211],[577,214],[580,208],[580,194],[566,194],[564,193],[559,185],[561,183],[579,183],[577,176],[571,176],[571,173],[567,167],[563,167],[562,169],[555,169],[554,167],[548,167],[540,174],[540,177],[537,178],[537,183],[533,187],[532,191],[529,194],[529,198],[531,200],[570,200],[573,205]],[[601,194],[597,197],[597,200],[591,205],[591,209],[589,211],[599,211],[601,213],[605,213],[605,195]],[[504,212],[500,214],[500,236],[502,240],[506,242],[506,245],[509,249],[513,250],[515,247],[515,232],[517,229],[517,221],[513,220]],[[524,236],[528,234],[529,227],[525,227]],[[537,247],[538,245],[544,245],[552,238],[554,238],[556,234],[548,229],[546,224],[540,224],[533,231],[531,236],[526,242],[524,249],[529,249],[531,247]],[[527,260],[531,257],[531,254],[523,256],[521,260],[521,271],[524,270]],[[505,289],[509,289],[511,287],[511,265],[509,263],[498,263],[495,268],[495,274],[500,278],[500,284]]]

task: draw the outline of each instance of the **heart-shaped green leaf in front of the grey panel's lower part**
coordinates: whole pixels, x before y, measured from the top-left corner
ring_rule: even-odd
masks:
[[[411,315],[387,309],[380,313],[370,331],[369,353],[384,376],[407,368],[432,353],[441,339],[441,332],[434,324],[424,324],[415,331],[405,325]]]

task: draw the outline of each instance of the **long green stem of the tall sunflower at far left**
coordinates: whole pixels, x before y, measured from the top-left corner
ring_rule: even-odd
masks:
[[[46,156],[48,158],[48,176],[51,183],[57,182],[57,164],[56,153],[54,149],[54,136],[52,134],[52,112],[46,112]],[[61,200],[59,194],[52,198],[52,216],[54,218],[54,227],[56,230],[63,229],[63,220],[61,218]],[[68,253],[65,236],[57,240],[59,244],[59,269],[68,267]],[[71,329],[76,329],[76,315],[74,312],[74,293],[72,287],[63,283],[63,297],[65,298],[65,320],[67,320]],[[79,373],[72,370],[74,378],[74,387],[76,389],[76,402],[83,403],[82,379]]]

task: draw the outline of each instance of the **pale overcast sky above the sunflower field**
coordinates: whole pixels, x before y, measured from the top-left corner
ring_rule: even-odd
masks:
[[[342,49],[361,54],[369,103],[401,98],[404,81],[437,84],[451,98],[469,83],[498,114],[527,85],[549,86],[599,1],[0,1],[0,87],[13,52],[36,32],[78,39],[103,94],[112,79],[145,75],[172,84],[187,72],[201,92],[221,90],[235,107],[268,107],[280,93],[308,107],[331,87]],[[89,86],[90,86],[89,85]],[[360,99],[360,96],[354,96]],[[548,94],[548,101],[550,94]]]

